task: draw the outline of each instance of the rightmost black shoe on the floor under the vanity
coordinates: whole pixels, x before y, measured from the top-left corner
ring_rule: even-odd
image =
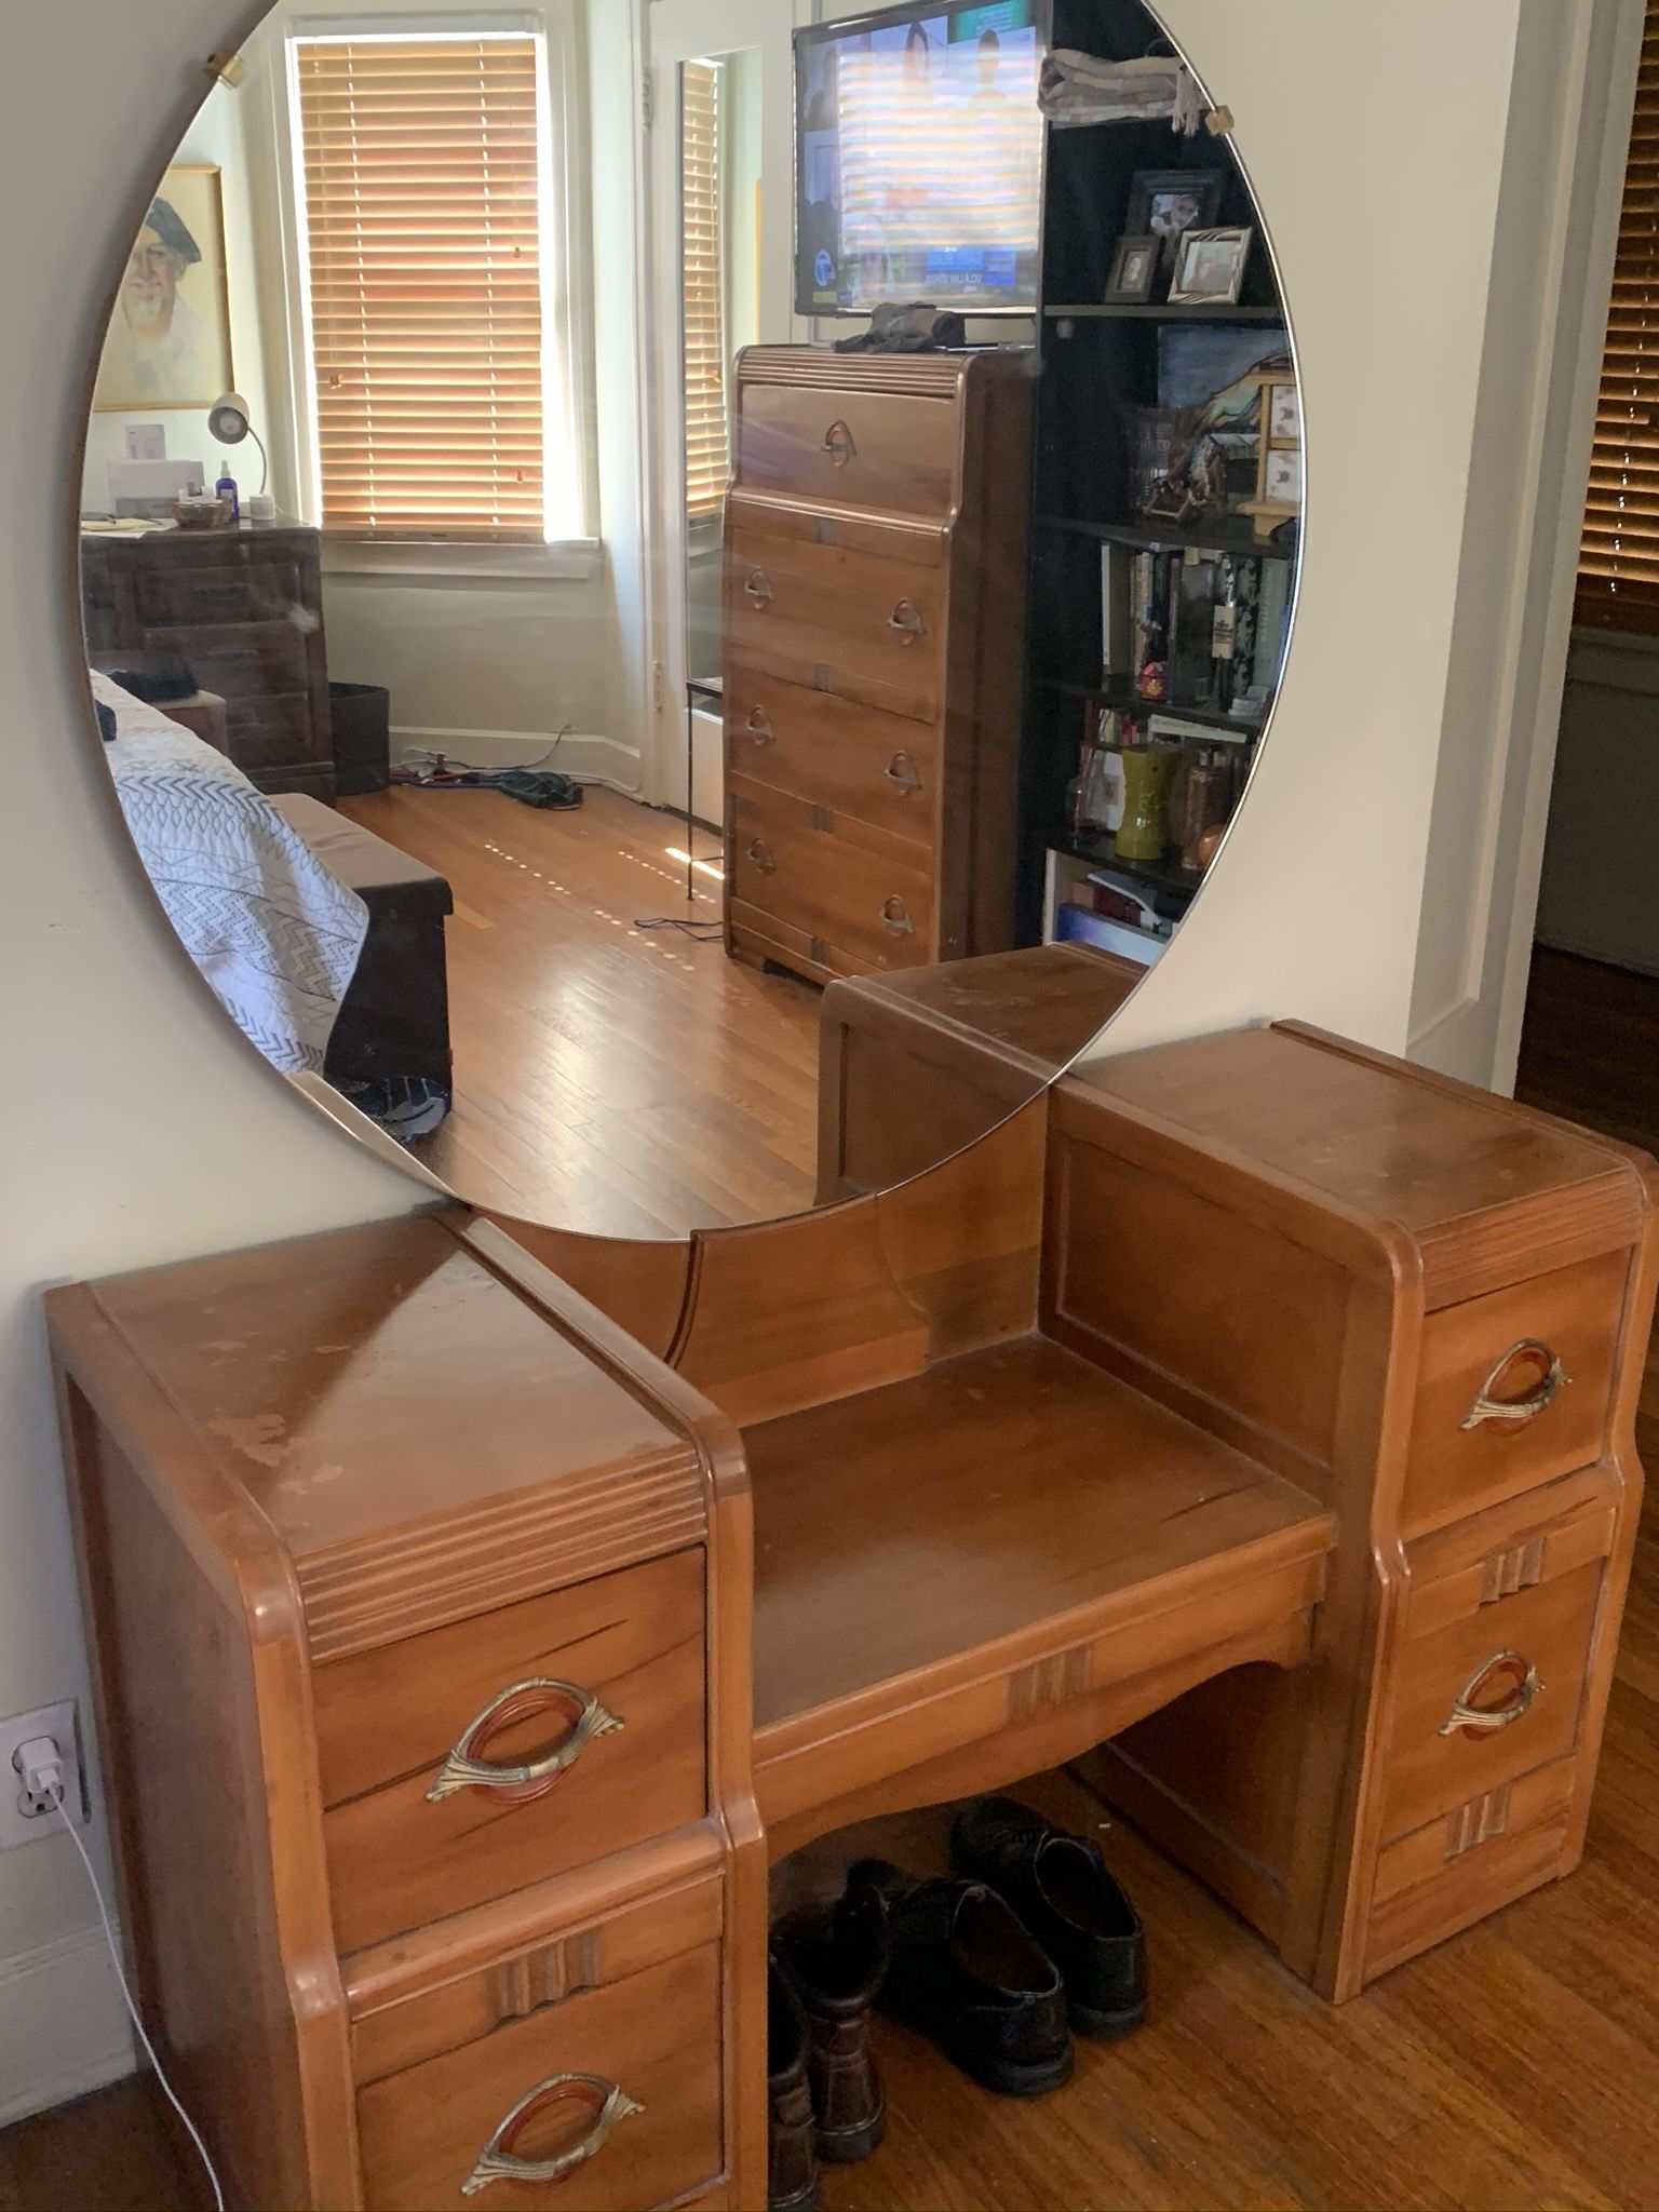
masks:
[[[978,1798],[951,1825],[951,1865],[995,1889],[1060,1966],[1079,2035],[1139,2028],[1146,1931],[1093,1843],[1013,1798]]]

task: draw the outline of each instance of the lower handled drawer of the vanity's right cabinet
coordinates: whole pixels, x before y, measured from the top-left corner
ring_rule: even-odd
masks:
[[[1385,1843],[1577,1750],[1617,1526],[1595,1469],[1407,1548],[1411,1597],[1378,1752]]]

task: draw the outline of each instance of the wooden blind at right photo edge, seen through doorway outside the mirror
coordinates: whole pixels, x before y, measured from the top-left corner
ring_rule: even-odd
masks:
[[[1641,38],[1577,619],[1659,633],[1659,0]]]

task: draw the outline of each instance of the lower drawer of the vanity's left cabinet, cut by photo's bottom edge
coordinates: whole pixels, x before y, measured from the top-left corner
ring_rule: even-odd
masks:
[[[719,1960],[719,1944],[703,1944],[522,2017],[502,2017],[513,2000],[495,1995],[500,1966],[451,1984],[458,2035],[480,2008],[500,2024],[358,2090],[369,2212],[471,2201],[462,2190],[491,2150],[522,2161],[584,2152],[562,2174],[480,2177],[480,2203],[522,2212],[644,2212],[712,2181],[723,2168]]]

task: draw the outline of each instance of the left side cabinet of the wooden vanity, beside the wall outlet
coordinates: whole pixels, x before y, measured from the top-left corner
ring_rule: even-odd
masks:
[[[49,1325],[133,1978],[230,2201],[759,2201],[721,1416],[462,1214]]]

